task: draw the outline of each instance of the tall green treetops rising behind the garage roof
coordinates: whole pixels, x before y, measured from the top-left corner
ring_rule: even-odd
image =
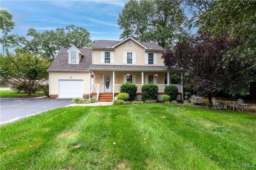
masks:
[[[85,28],[74,25],[42,33],[30,28],[27,36],[33,37],[32,40],[17,36],[18,42],[24,45],[23,49],[32,53],[43,53],[50,59],[54,59],[62,47],[76,45],[78,48],[85,48],[93,43],[90,40],[90,33]]]

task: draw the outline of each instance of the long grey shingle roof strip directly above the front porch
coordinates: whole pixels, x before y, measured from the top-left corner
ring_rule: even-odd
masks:
[[[113,70],[113,71],[167,71],[166,66],[156,66],[156,65],[91,65],[90,70]],[[173,68],[171,71],[182,71],[183,69]],[[184,70],[185,71],[185,70]]]

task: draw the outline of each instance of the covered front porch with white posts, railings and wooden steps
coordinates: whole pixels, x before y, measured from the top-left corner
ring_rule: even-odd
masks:
[[[127,77],[127,74],[130,76]],[[180,83],[172,84],[171,75],[180,74]],[[136,100],[141,100],[142,85],[155,83],[158,86],[158,101],[162,101],[164,88],[174,85],[178,88],[178,100],[183,100],[183,74],[184,71],[90,71],[90,97],[98,101],[112,101],[123,83],[130,82],[137,85]],[[157,77],[155,75],[158,75]]]

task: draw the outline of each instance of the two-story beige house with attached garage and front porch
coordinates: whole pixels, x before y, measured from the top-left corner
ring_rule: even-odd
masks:
[[[164,48],[156,43],[138,42],[134,38],[122,41],[97,40],[92,49],[62,48],[50,67],[50,98],[74,98],[88,95],[99,101],[112,101],[122,83],[138,86],[137,100],[141,100],[141,87],[145,83],[158,85],[158,100],[162,100],[164,87],[170,75],[181,74],[183,69],[168,70],[161,58]],[[126,77],[130,74],[130,77]],[[157,74],[158,78],[154,77]],[[178,87],[182,100],[183,85]]]

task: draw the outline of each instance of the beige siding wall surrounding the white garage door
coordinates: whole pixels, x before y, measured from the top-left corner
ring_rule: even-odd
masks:
[[[58,95],[59,80],[72,80],[72,79],[84,80],[84,93],[89,94],[89,73],[88,72],[50,71],[50,95]]]

